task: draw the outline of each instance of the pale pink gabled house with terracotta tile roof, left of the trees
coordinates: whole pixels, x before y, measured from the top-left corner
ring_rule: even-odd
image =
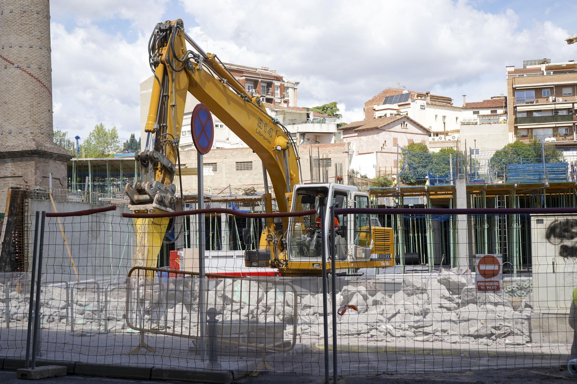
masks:
[[[431,131],[407,115],[358,121],[340,127],[351,144],[351,169],[375,178],[398,174],[400,148],[414,142],[429,146]]]

